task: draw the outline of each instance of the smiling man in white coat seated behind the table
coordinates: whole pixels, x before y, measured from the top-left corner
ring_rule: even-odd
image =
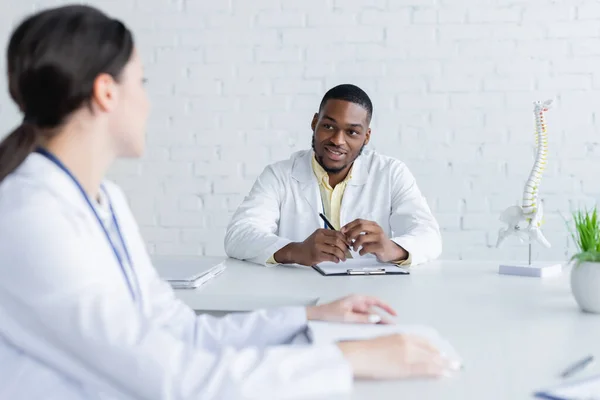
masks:
[[[372,113],[357,86],[329,90],[312,119],[312,150],[265,168],[229,224],[227,255],[306,266],[343,262],[350,248],[403,266],[437,258],[439,225],[412,173],[364,149]]]

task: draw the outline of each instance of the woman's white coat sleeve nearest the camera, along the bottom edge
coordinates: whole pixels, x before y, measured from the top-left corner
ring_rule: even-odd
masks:
[[[28,210],[29,211],[29,210]],[[0,223],[0,333],[66,379],[117,398],[295,398],[348,391],[335,346],[190,346],[140,312],[59,210]],[[24,221],[44,223],[24,224]],[[26,247],[24,247],[26,245]],[[198,329],[203,329],[199,324]]]

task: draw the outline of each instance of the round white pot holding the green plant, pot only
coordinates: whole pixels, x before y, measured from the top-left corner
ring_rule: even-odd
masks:
[[[583,311],[600,313],[600,263],[574,264],[571,291]]]

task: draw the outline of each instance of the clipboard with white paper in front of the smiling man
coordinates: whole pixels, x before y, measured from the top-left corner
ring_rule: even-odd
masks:
[[[344,262],[322,262],[313,267],[321,275],[408,275],[408,270],[391,263],[380,263],[376,257],[350,258]]]

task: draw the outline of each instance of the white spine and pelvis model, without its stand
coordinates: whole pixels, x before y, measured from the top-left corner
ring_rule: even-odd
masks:
[[[550,247],[541,231],[542,218],[544,215],[542,203],[539,200],[539,187],[542,181],[542,173],[546,169],[546,159],[548,156],[548,134],[546,133],[546,122],[544,113],[552,105],[552,100],[545,102],[536,101],[533,103],[533,113],[535,114],[535,139],[536,139],[536,157],[529,179],[525,184],[523,191],[523,205],[508,207],[500,215],[500,221],[507,224],[506,228],[501,228],[498,233],[498,242],[496,247],[508,236],[515,235],[521,241],[537,241],[545,247]],[[525,222],[525,226],[520,223]]]

